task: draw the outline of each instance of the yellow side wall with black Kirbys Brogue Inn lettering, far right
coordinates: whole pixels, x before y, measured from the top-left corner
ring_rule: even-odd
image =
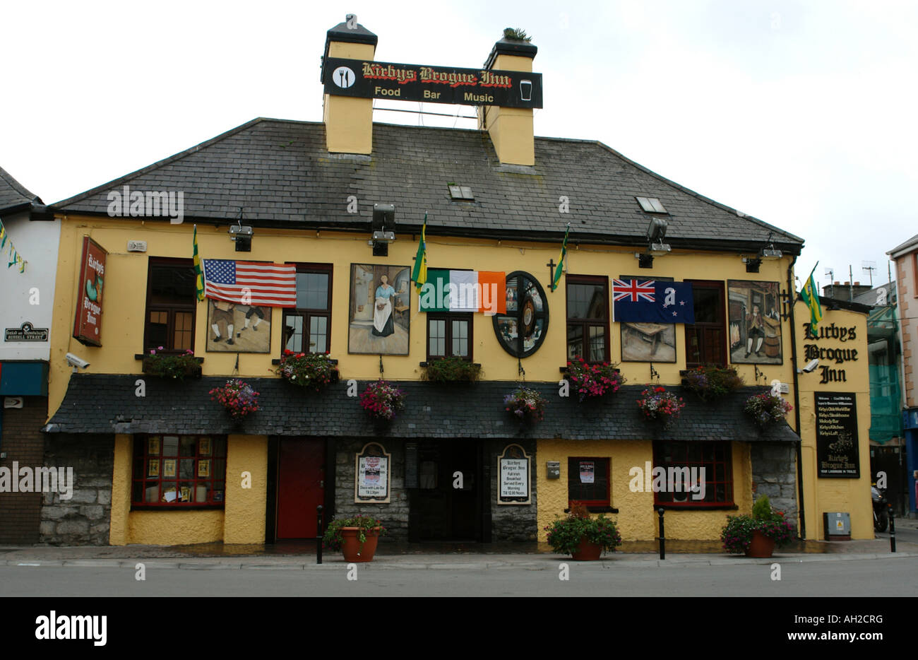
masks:
[[[818,347],[843,348],[857,351],[857,359],[835,364],[832,360],[820,360],[820,365],[831,369],[844,369],[846,381],[820,382],[822,370],[800,373],[800,437],[803,455],[803,486],[807,538],[824,538],[823,512],[846,511],[851,514],[851,537],[872,539],[873,506],[870,500],[870,383],[868,370],[867,314],[845,310],[830,311],[823,305],[823,320],[820,327],[835,324],[839,327],[856,328],[856,340],[842,342],[837,339],[807,339],[803,324],[810,318],[809,309],[799,302],[795,311],[797,328],[797,354],[800,366],[807,363],[804,347],[816,344]],[[861,461],[859,479],[820,478],[816,463],[816,410],[813,404],[814,392],[851,392],[857,399],[857,437]],[[791,413],[790,415],[793,415]],[[789,415],[789,416],[790,416]]]

